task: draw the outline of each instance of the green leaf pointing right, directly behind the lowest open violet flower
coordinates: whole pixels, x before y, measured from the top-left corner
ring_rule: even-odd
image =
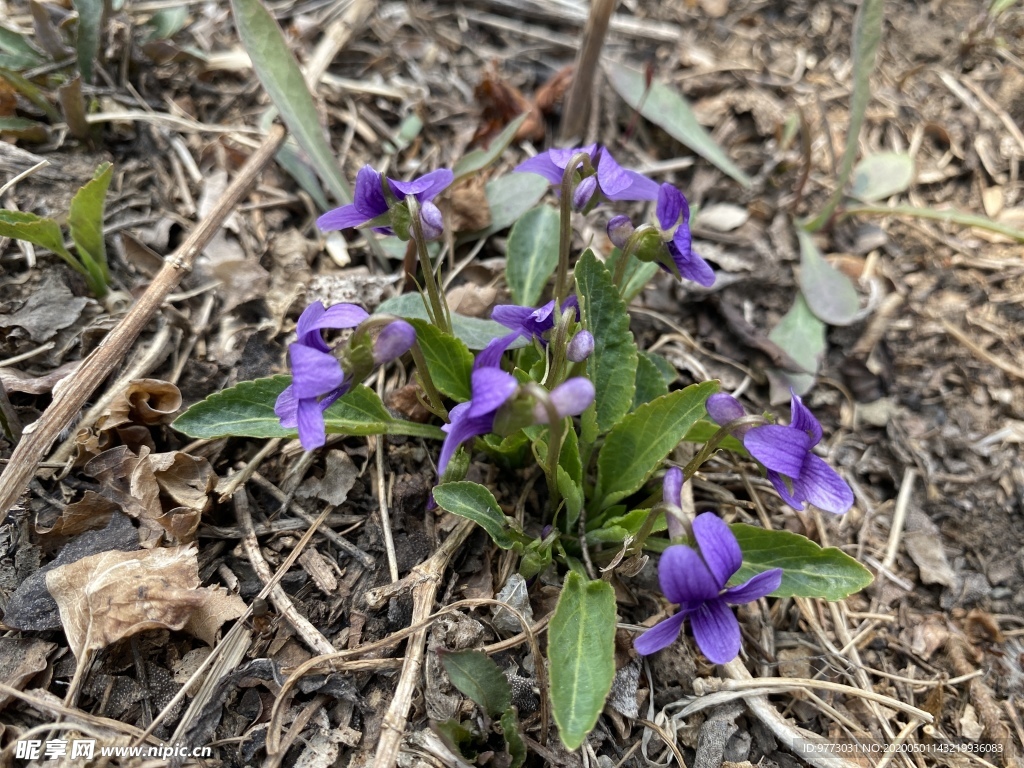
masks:
[[[732,578],[740,584],[769,568],[782,568],[775,597],[820,597],[842,600],[871,583],[871,572],[844,552],[822,549],[788,530],[765,530],[741,522],[729,526],[743,552],[743,564]]]

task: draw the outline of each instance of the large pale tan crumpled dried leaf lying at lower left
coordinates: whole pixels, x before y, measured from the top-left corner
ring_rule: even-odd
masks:
[[[180,630],[206,597],[194,547],[103,552],[46,574],[75,656],[154,629]]]

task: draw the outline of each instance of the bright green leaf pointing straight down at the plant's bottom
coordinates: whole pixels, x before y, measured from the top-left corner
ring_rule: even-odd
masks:
[[[567,750],[597,723],[615,676],[615,593],[607,582],[565,575],[548,629],[551,703]]]

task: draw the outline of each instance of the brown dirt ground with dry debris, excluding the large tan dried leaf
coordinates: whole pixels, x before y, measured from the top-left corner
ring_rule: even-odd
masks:
[[[92,145],[60,128],[42,144],[0,144],[0,184],[31,167],[25,153],[50,162],[2,199],[39,214],[67,211],[99,162],[115,164],[105,232],[120,303],[93,300],[58,259],[0,239],[0,382],[23,428],[46,411],[55,386],[86,386],[81,361],[143,294],[161,257],[215,210],[260,141],[268,99],[228,5],[190,3],[183,29],[143,44],[145,23],[161,5],[127,3],[108,19],[92,94],[100,112],[116,115],[96,124]],[[271,9],[300,63],[333,23],[358,19],[315,90],[349,179],[366,163],[386,163],[403,177],[451,167],[478,133],[500,130],[523,103],[548,110],[532,121],[535,137],[514,141],[487,174],[508,172],[526,157],[524,146],[546,148],[564,86],[551,80],[572,63],[586,18],[585,6],[568,0],[312,0]],[[771,407],[770,359],[758,340],[797,291],[788,221],[819,210],[835,187],[849,123],[855,9],[826,0],[618,3],[605,66],[647,67],[677,87],[754,179],[745,189],[635,120],[598,73],[586,139],[614,147],[624,165],[677,184],[691,206],[719,214],[698,214],[694,225],[695,250],[718,271],[715,287],[694,290],[659,274],[632,307],[641,348],[657,348],[677,368],[674,386],[716,378]],[[12,26],[32,28],[26,5],[7,2],[5,10],[0,15]],[[1024,227],[1024,10],[993,17],[986,3],[955,1],[890,3],[886,10],[863,154],[912,156],[914,182],[901,203]],[[40,117],[24,100],[17,110]],[[419,130],[411,118],[422,122]],[[790,140],[786,126],[801,120],[806,141]],[[459,196],[450,215],[468,219],[465,231],[485,227],[480,186]],[[378,756],[376,765],[463,764],[429,724],[459,713],[469,718],[473,707],[451,686],[433,650],[507,639],[488,609],[466,607],[433,623],[422,674],[409,678],[413,687],[404,691],[409,706],[397,720],[388,710],[408,684],[402,659],[422,645],[402,630],[423,617],[414,600],[421,587],[390,586],[388,539],[403,577],[439,548],[450,560],[434,574],[436,600],[427,613],[493,598],[514,569],[479,530],[443,552],[440,543],[458,525],[424,512],[436,445],[332,438],[303,455],[297,441],[189,441],[168,426],[179,407],[284,372],[307,302],[373,308],[402,290],[400,253],[382,263],[355,237],[325,248],[313,225],[321,212],[271,163],[224,218],[123,362],[92,386],[87,404],[39,457],[45,461],[0,527],[0,610],[7,614],[24,583],[44,585],[40,567],[62,548],[62,561],[71,562],[75,551],[130,550],[162,535],[194,541],[202,584],[249,604],[304,546],[310,524],[322,514],[326,520],[289,563],[282,591],[258,601],[244,633],[231,635],[225,660],[204,673],[207,689],[194,683],[176,699],[210,653],[202,632],[154,629],[97,651],[75,683],[74,706],[65,708],[76,657],[45,587],[37,589],[19,606],[22,631],[0,637],[4,764],[26,733],[45,739],[61,729],[69,739],[85,734],[128,744],[151,726],[169,743],[213,745],[204,764],[371,765],[389,730],[401,736],[400,752]],[[579,245],[590,241],[607,252],[599,214],[578,224]],[[490,306],[509,302],[501,278],[506,237],[461,242],[461,270],[450,286],[460,312],[487,316]],[[776,720],[835,742],[928,748],[892,756],[897,765],[1017,764],[1024,749],[1024,251],[983,228],[906,215],[839,217],[817,242],[858,281],[864,307],[853,325],[829,329],[806,398],[823,424],[829,461],[855,492],[855,508],[840,518],[795,513],[752,465],[724,455],[698,475],[693,503],[737,520],[757,521],[767,510],[776,525],[860,559],[874,583],[841,603],[770,600],[740,612],[745,669],[755,681],[780,683],[766,697],[738,697],[757,682],[744,688],[724,680],[690,638],[640,664],[634,633],[620,630],[612,699],[575,754],[556,737],[542,743],[528,646],[505,644],[495,658],[519,683],[528,765],[668,765],[673,752],[662,737],[699,768],[803,764],[772,730]],[[144,382],[126,396],[135,380]],[[392,369],[381,385],[391,393],[388,404],[409,413],[407,381],[403,370]],[[0,437],[0,486],[10,482],[13,450]],[[509,513],[517,505],[528,510],[539,493],[534,483],[544,484],[538,473],[502,474],[482,461],[471,473],[487,478]],[[390,537],[382,528],[382,492]],[[122,512],[134,525],[119,522]],[[624,625],[664,617],[653,562],[616,586]],[[532,586],[539,629],[557,594],[554,577]],[[238,616],[232,609],[225,603],[224,615]],[[219,627],[210,639],[223,643],[215,639]],[[388,638],[397,641],[283,688],[292,671],[325,652],[317,643],[348,650]],[[712,693],[719,688],[725,692]],[[203,706],[189,709],[197,699]],[[998,752],[939,749],[951,742]],[[506,764],[500,740],[492,746],[475,764]],[[861,755],[817,764],[880,761]]]

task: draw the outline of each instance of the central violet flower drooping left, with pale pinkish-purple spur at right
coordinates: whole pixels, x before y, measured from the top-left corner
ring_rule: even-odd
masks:
[[[519,391],[516,378],[500,368],[476,369],[470,377],[470,399],[452,409],[449,412],[451,423],[441,427],[447,436],[437,458],[438,476],[443,476],[461,444],[494,431],[500,409]],[[549,396],[560,417],[578,416],[594,401],[594,385],[584,377],[568,379],[552,389]],[[540,402],[535,403],[532,418],[535,424],[547,424],[547,409]]]

